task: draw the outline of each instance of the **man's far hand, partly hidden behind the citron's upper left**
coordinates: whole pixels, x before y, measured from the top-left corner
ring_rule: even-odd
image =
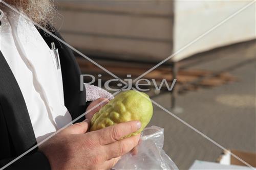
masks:
[[[101,103],[101,104],[99,104]],[[86,114],[86,118],[89,119],[91,121],[91,119],[93,118],[93,115],[98,112],[105,104],[109,103],[108,99],[105,98],[99,98],[95,101],[93,101],[86,109],[86,111],[88,112],[88,110],[90,110],[90,112],[88,112]],[[94,109],[92,109],[94,106],[98,105],[97,107],[95,107]],[[91,110],[92,109],[92,110]]]

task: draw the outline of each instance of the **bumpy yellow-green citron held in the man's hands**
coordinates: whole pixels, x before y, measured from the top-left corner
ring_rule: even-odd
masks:
[[[99,130],[119,123],[139,120],[141,128],[125,137],[139,134],[150,122],[153,106],[147,94],[135,90],[123,91],[95,113],[90,131]]]

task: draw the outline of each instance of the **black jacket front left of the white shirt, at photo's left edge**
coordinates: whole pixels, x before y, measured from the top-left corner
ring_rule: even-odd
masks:
[[[0,104],[16,154],[22,154],[36,144],[36,139],[23,94],[1,52]]]

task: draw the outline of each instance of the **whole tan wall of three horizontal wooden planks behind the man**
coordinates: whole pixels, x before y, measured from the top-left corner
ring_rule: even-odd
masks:
[[[172,1],[57,1],[60,33],[104,58],[163,60],[173,50]],[[58,29],[62,20],[56,18]]]

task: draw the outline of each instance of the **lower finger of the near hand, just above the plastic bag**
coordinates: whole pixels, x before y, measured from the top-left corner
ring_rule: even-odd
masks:
[[[136,135],[105,145],[105,151],[108,153],[106,154],[107,159],[116,158],[130,152],[134,147],[138,145],[139,139],[140,136]]]

